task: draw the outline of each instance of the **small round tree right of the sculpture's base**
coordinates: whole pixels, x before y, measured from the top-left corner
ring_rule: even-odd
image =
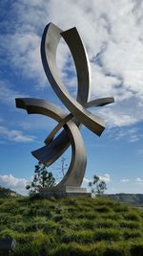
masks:
[[[92,193],[98,196],[103,195],[107,189],[106,182],[100,180],[100,177],[97,175],[93,175],[93,181],[89,182],[89,186],[91,187]]]

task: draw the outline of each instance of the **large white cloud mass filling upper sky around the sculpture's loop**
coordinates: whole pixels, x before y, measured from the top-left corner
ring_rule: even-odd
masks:
[[[113,96],[116,104],[102,111],[106,120],[111,127],[130,126],[143,121],[142,12],[143,3],[134,0],[19,0],[10,4],[10,29],[0,38],[0,51],[12,68],[45,85],[39,52],[44,26],[50,21],[63,30],[76,26],[92,61],[92,98]],[[58,66],[74,87],[74,75],[67,76],[69,57],[61,43]]]

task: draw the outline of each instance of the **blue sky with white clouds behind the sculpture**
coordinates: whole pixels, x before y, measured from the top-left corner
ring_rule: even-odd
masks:
[[[143,1],[3,0],[0,13],[0,185],[26,194],[37,164],[31,151],[44,145],[56,125],[16,108],[14,99],[41,98],[64,108],[40,57],[41,36],[52,22],[63,31],[76,27],[84,41],[92,70],[90,99],[115,101],[90,109],[106,122],[101,137],[81,128],[88,156],[83,186],[99,175],[107,193],[143,193]],[[76,73],[64,40],[57,65],[75,97]],[[71,150],[65,157],[69,164]],[[57,178],[60,164],[49,168]]]

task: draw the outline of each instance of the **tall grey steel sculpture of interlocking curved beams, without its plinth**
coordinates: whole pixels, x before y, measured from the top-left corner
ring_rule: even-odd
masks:
[[[58,75],[56,50],[61,36],[68,44],[75,63],[78,81],[76,100],[72,98]],[[40,99],[16,99],[16,106],[26,109],[28,114],[46,115],[58,122],[58,125],[45,139],[46,145],[31,152],[43,164],[50,166],[69,146],[72,146],[72,161],[69,170],[63,179],[51,188],[51,191],[64,191],[66,187],[79,188],[85,175],[87,163],[84,143],[79,130],[80,125],[85,125],[100,136],[105,128],[104,121],[87,108],[111,104],[114,100],[111,97],[88,102],[91,85],[90,65],[76,28],[63,32],[52,23],[47,25],[41,41],[41,58],[54,92],[71,113],[66,114],[59,107]],[[60,128],[64,129],[54,137]]]

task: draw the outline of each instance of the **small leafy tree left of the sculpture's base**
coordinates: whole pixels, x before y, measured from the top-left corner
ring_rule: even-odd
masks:
[[[34,176],[33,180],[31,181],[31,185],[26,186],[26,189],[29,190],[30,195],[39,193],[40,188],[50,188],[55,184],[55,178],[53,177],[52,173],[48,172],[46,167],[41,162],[38,162],[34,168]]]

